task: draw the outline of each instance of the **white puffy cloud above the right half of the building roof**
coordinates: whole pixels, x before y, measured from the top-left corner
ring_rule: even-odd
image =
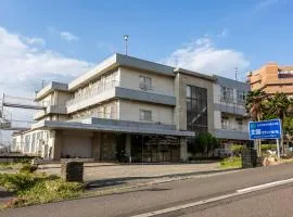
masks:
[[[243,53],[232,49],[218,49],[207,37],[196,39],[183,48],[175,50],[163,60],[163,63],[225,77],[231,77],[235,66],[243,72],[250,65]]]

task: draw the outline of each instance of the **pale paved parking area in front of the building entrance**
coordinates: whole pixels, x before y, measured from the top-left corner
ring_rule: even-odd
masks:
[[[39,171],[60,175],[60,164],[43,165]],[[220,170],[217,162],[196,164],[106,164],[85,163],[85,181],[114,179],[149,179]]]

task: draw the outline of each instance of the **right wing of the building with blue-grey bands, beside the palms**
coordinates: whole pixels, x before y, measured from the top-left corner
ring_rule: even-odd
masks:
[[[220,76],[214,84],[214,135],[226,144],[243,144],[249,140],[249,115],[245,98],[250,85]]]

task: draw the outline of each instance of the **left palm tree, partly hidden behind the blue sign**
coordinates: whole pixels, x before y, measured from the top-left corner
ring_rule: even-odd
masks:
[[[263,119],[267,97],[267,93],[263,90],[253,90],[247,93],[245,108],[253,120],[259,122]],[[260,140],[257,140],[256,150],[258,156],[262,154],[260,145]]]

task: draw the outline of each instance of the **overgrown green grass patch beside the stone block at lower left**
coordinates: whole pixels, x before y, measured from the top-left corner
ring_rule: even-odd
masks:
[[[73,199],[84,191],[81,183],[64,182],[56,176],[29,173],[0,174],[0,186],[16,195],[4,205],[5,208]]]

